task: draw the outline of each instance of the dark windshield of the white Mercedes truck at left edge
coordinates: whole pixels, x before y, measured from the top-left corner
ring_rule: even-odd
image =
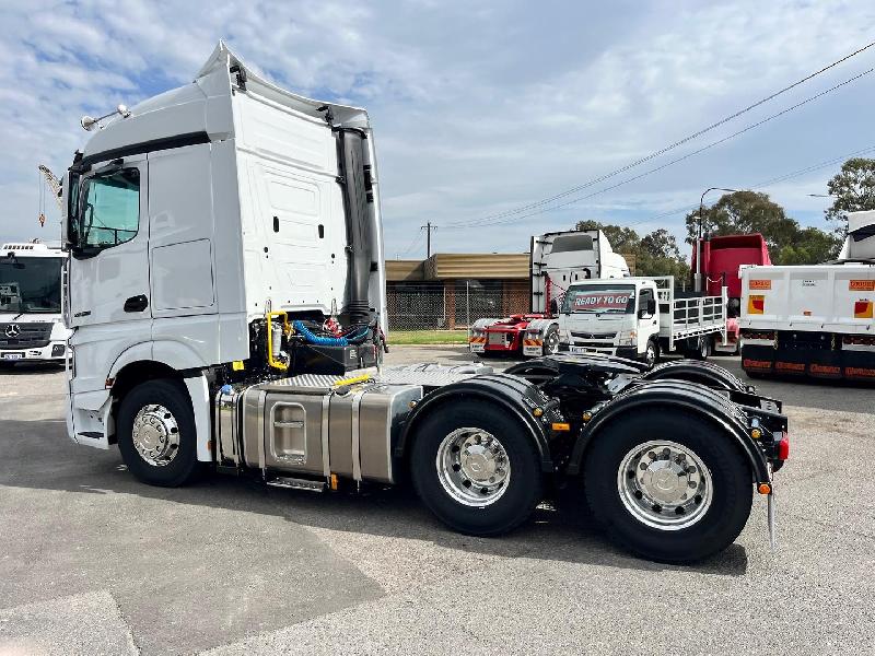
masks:
[[[61,258],[0,259],[0,312],[58,314],[61,311]]]

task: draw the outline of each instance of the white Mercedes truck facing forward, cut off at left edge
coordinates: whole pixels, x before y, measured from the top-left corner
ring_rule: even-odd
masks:
[[[46,244],[0,247],[0,364],[67,360],[61,279],[67,256]]]

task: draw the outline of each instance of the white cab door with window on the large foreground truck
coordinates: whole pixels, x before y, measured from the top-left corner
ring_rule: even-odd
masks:
[[[71,206],[72,393],[103,389],[128,347],[151,339],[147,157],[95,165]]]

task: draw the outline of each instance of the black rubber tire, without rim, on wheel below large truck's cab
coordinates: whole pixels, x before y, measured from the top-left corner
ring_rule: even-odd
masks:
[[[163,406],[178,427],[178,448],[164,466],[151,465],[133,444],[133,422],[147,406]],[[117,421],[118,449],[128,470],[140,481],[162,488],[176,488],[199,473],[195,412],[188,391],[178,380],[148,380],[131,389],[121,400]]]

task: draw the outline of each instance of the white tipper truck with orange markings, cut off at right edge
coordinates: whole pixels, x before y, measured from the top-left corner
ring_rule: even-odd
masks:
[[[875,211],[848,215],[837,262],[742,267],[742,366],[751,376],[875,380]]]

